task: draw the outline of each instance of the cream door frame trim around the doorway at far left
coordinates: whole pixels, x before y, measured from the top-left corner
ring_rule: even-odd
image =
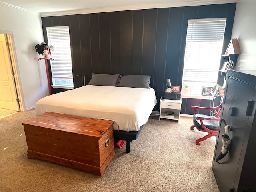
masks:
[[[8,50],[9,54],[10,54],[10,60],[11,60],[11,65],[12,65],[12,69],[15,73],[14,77],[14,86],[17,92],[17,96],[20,99],[19,106],[20,106],[20,111],[24,111],[24,98],[22,95],[22,86],[20,83],[20,73],[19,73],[19,69],[18,69],[18,65],[17,65],[17,54],[16,54],[16,49],[15,49],[15,44],[14,44],[14,35],[12,31],[8,31],[8,30],[2,30],[0,29],[0,34],[6,34],[7,36],[7,40],[10,42],[10,46]]]

